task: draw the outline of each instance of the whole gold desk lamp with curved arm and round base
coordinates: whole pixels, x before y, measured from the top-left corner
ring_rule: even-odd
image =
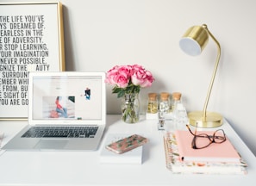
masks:
[[[218,49],[217,58],[215,61],[215,69],[209,84],[209,90],[206,96],[204,103],[203,111],[190,112],[188,117],[190,119],[190,125],[197,127],[220,127],[222,126],[223,118],[222,115],[215,112],[207,112],[207,106],[209,102],[209,96],[212,90],[212,86],[215,81],[215,74],[219,61],[221,58],[221,46],[219,42],[215,39],[213,34],[209,32],[207,25],[203,24],[202,26],[194,26],[189,28],[186,33],[183,35],[182,39],[179,41],[179,46],[184,51],[192,56],[199,55],[203,48],[207,45],[209,36],[215,41],[215,44]]]

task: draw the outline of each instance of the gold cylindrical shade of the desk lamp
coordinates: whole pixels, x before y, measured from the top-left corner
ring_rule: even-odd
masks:
[[[191,56],[197,56],[202,53],[207,45],[209,34],[203,26],[194,26],[189,28],[182,39],[179,41],[180,48]]]

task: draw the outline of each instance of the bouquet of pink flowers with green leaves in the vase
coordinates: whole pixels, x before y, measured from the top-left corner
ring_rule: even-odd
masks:
[[[140,87],[149,87],[153,81],[152,73],[141,65],[116,65],[107,71],[105,79],[105,83],[115,85],[112,92],[117,97],[139,93]]]

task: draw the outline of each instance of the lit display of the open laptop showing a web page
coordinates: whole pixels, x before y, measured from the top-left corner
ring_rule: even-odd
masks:
[[[32,120],[102,120],[103,77],[65,74],[33,77]]]

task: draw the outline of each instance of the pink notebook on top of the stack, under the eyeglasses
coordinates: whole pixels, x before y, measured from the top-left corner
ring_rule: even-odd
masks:
[[[197,133],[207,133],[212,135],[214,132],[211,131],[200,131]],[[193,135],[189,131],[176,131],[175,132],[179,157],[182,161],[196,161],[196,162],[240,162],[240,155],[234,149],[234,146],[228,140],[221,144],[212,143],[203,149],[193,149],[191,142]]]

